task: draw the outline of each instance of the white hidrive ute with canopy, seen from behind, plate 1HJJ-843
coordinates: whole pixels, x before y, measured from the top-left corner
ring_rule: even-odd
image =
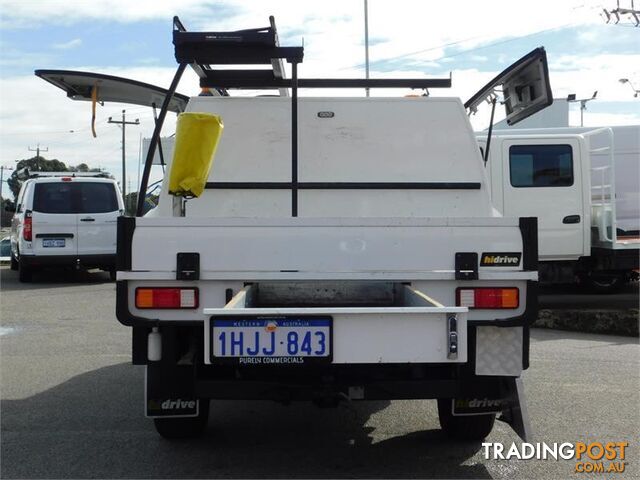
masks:
[[[520,376],[537,315],[537,222],[495,210],[461,101],[298,98],[299,88],[450,79],[303,79],[303,49],[280,47],[273,19],[237,32],[174,26],[179,67],[167,91],[36,72],[75,99],[98,85],[99,100],[162,103],[142,191],[167,110],[224,121],[201,196],[169,195],[165,179],[153,213],[140,216],[141,202],[119,220],[116,313],[132,327],[133,363],[146,365],[157,431],[202,433],[211,399],[437,399],[453,437],[484,438],[496,414],[527,437]],[[174,95],[187,65],[213,95]],[[487,91],[518,92],[512,118],[550,101],[544,49],[503,73]],[[229,96],[235,88],[281,95]]]

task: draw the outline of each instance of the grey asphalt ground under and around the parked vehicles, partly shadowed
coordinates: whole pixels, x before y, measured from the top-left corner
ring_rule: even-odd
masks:
[[[104,273],[0,269],[0,476],[4,478],[582,478],[575,460],[485,459],[439,430],[435,402],[212,402],[207,434],[168,442],[143,417],[144,368]],[[638,339],[532,331],[524,375],[534,442],[629,442],[640,478]],[[496,423],[488,442],[521,442]]]

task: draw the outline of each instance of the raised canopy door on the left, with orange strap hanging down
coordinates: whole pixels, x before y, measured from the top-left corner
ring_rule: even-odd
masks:
[[[36,76],[61,88],[67,97],[73,100],[92,100],[94,87],[97,87],[97,102],[120,102],[160,107],[167,90],[164,88],[138,82],[129,78],[103,75],[93,72],[77,72],[72,70],[36,70]],[[168,110],[183,112],[189,97],[175,93],[169,102]]]

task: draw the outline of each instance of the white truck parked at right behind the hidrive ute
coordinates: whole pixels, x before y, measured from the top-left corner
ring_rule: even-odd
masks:
[[[495,208],[538,217],[542,283],[609,293],[638,278],[640,126],[496,130],[486,168]]]

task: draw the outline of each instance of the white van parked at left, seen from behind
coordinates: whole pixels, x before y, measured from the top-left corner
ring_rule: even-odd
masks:
[[[26,180],[11,222],[11,269],[21,282],[42,267],[101,268],[115,276],[115,180],[104,173],[36,172]]]

